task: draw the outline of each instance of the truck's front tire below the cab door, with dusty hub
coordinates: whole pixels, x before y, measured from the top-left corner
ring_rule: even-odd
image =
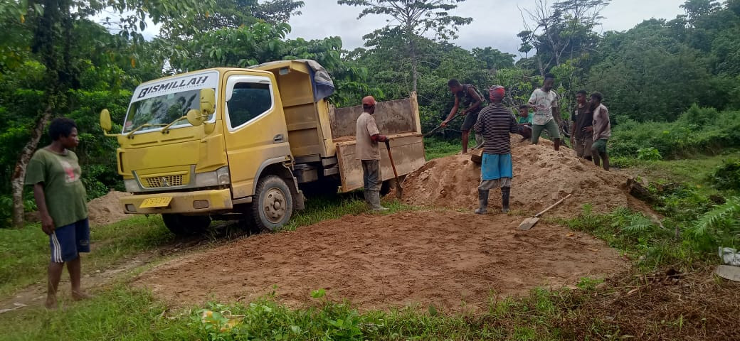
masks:
[[[260,231],[275,231],[287,224],[293,214],[293,195],[279,176],[265,176],[257,184],[252,201],[252,217]]]

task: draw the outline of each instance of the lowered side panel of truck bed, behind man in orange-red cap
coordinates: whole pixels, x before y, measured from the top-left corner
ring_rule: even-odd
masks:
[[[406,133],[389,136],[391,152],[400,175],[405,175],[421,168],[425,163],[424,142],[421,134]],[[349,192],[363,187],[363,168],[360,160],[354,156],[354,140],[337,142],[337,160],[339,162],[342,185],[340,192]],[[393,168],[388,160],[386,145],[380,143],[380,176],[383,181],[393,179]]]

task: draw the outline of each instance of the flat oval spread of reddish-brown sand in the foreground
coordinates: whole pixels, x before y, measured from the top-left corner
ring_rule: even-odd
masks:
[[[290,306],[324,288],[363,309],[429,304],[485,309],[491,293],[574,285],[627,269],[590,235],[521,217],[417,211],[345,216],[295,232],[257,235],[165,263],[134,284],[170,303],[249,302],[272,292]]]

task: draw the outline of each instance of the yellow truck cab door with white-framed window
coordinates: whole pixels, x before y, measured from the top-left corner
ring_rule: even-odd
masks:
[[[234,198],[254,193],[260,166],[290,155],[285,114],[271,77],[228,75],[226,79],[226,155]]]

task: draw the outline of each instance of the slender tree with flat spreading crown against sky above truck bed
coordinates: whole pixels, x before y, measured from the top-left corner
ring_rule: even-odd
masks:
[[[386,25],[398,27],[403,32],[403,40],[408,46],[411,60],[411,89],[417,91],[419,37],[433,32],[442,41],[457,38],[457,27],[470,24],[473,18],[450,15],[449,11],[465,0],[338,0],[337,4],[365,7],[357,18],[366,15],[388,15],[393,18]],[[380,31],[383,32],[383,31]]]

